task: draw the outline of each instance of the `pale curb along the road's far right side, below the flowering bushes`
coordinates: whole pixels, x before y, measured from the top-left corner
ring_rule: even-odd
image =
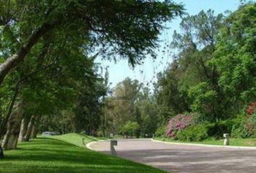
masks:
[[[158,143],[174,144],[174,145],[184,145],[184,146],[205,146],[205,147],[216,147],[216,148],[236,148],[236,149],[256,150],[256,146],[217,146],[217,145],[208,145],[208,144],[200,144],[200,143],[174,143],[174,142],[158,141],[153,138],[151,138],[151,141],[158,142]]]

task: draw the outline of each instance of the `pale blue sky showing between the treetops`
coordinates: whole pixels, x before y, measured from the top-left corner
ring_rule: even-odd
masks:
[[[224,13],[226,10],[234,12],[239,6],[239,0],[174,0],[176,3],[184,4],[186,12],[190,15],[198,14],[200,11],[207,11],[208,9],[213,9],[216,14]],[[166,47],[171,43],[171,37],[174,33],[174,30],[179,32],[179,23],[181,22],[180,18],[173,19],[171,23],[166,24],[168,29],[163,30],[159,36],[160,49],[155,50],[157,53],[157,58],[153,62],[152,58],[146,58],[145,63],[142,65],[135,66],[134,69],[128,66],[127,60],[119,60],[116,63],[114,61],[102,61],[101,58],[96,59],[96,63],[101,63],[103,69],[108,67],[108,81],[111,87],[116,86],[119,82],[123,81],[125,78],[129,77],[131,79],[137,79],[138,81],[149,86],[153,89],[153,82],[156,81],[156,74],[158,72],[164,71],[168,64],[171,63],[172,58],[170,55],[171,50]],[[166,53],[163,53],[163,50],[167,50]],[[104,75],[105,71],[103,71]]]

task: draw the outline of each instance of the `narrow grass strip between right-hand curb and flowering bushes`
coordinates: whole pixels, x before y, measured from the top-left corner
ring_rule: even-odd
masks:
[[[158,141],[162,141],[162,138],[154,138],[154,139]],[[223,139],[222,140],[208,139],[201,142],[186,142],[186,141],[184,142],[184,141],[176,141],[171,138],[165,138],[164,141],[174,142],[174,143],[200,143],[200,144],[223,146]],[[256,146],[256,138],[230,138],[229,145],[230,146]]]

